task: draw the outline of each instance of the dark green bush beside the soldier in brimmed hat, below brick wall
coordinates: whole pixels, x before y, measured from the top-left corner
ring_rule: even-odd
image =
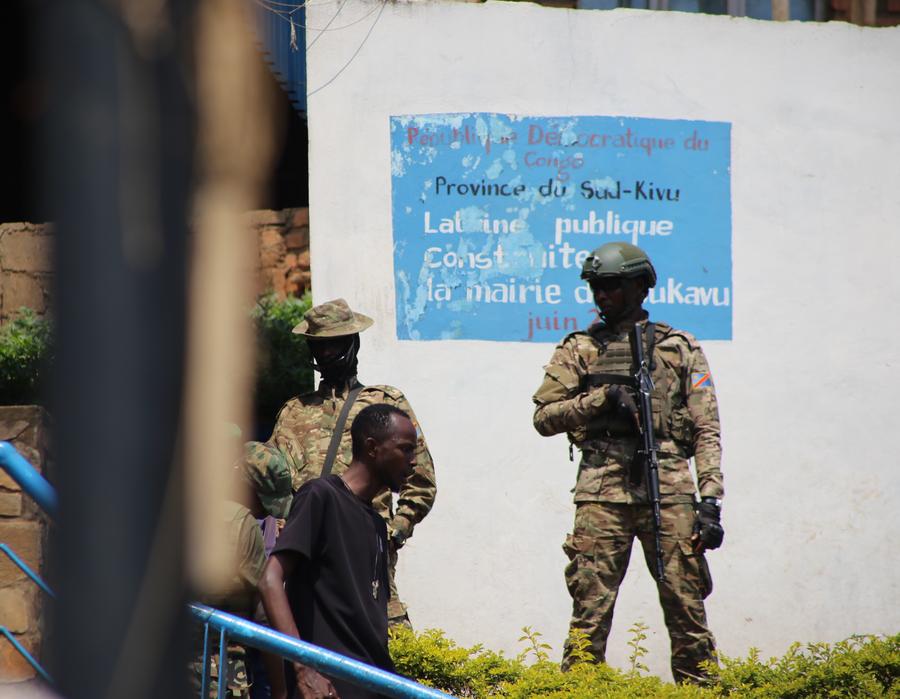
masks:
[[[312,297],[263,296],[251,315],[256,326],[256,414],[274,420],[282,405],[313,387],[313,371],[306,341],[291,330],[310,309]]]

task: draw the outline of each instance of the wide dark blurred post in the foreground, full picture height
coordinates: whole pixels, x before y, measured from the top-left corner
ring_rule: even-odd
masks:
[[[50,661],[68,699],[185,694],[192,5],[68,0],[38,25],[57,223]]]

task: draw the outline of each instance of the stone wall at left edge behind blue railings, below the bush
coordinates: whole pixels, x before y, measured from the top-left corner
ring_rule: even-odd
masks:
[[[11,442],[38,471],[51,470],[48,416],[35,405],[0,406],[0,441]],[[30,496],[0,470],[0,542],[43,577],[48,519]],[[0,554],[0,624],[34,657],[41,657],[46,595],[9,558]],[[0,637],[0,682],[20,682],[34,670]]]

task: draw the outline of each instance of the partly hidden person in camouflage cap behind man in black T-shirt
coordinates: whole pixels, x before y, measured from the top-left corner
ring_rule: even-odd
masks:
[[[252,619],[259,601],[257,586],[266,565],[265,546],[257,518],[271,515],[285,517],[291,504],[291,474],[287,463],[277,450],[259,442],[244,445],[244,458],[235,465],[235,490],[225,503],[225,519],[221,536],[229,551],[234,552],[232,575],[216,590],[200,595],[200,602],[216,609]],[[195,639],[196,640],[196,639]],[[203,673],[202,640],[197,658],[190,663],[191,685],[196,695],[200,691]],[[218,644],[212,644],[218,649]],[[218,652],[210,654],[209,693],[218,696],[221,664]],[[226,663],[229,699],[250,698],[250,678],[247,674],[246,650],[243,646],[228,645]],[[283,685],[283,680],[278,686]]]

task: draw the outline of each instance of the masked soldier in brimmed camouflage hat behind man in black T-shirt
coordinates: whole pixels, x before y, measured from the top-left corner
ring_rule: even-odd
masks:
[[[268,442],[285,455],[295,492],[306,481],[318,478],[322,473],[341,408],[349,392],[360,385],[356,378],[359,333],[372,322],[368,316],[354,313],[343,299],[336,299],[311,308],[294,328],[294,332],[303,335],[309,343],[313,367],[322,375],[316,390],[285,403]],[[391,492],[385,489],[372,503],[388,527],[391,593],[388,621],[392,625],[409,625],[406,606],[400,601],[394,582],[397,551],[431,510],[437,485],[428,445],[409,402],[399,389],[384,385],[362,388],[347,416],[331,472],[340,475],[350,465],[350,425],[363,408],[376,403],[388,403],[407,413],[419,434],[417,466],[400,490],[397,502],[392,501]]]

